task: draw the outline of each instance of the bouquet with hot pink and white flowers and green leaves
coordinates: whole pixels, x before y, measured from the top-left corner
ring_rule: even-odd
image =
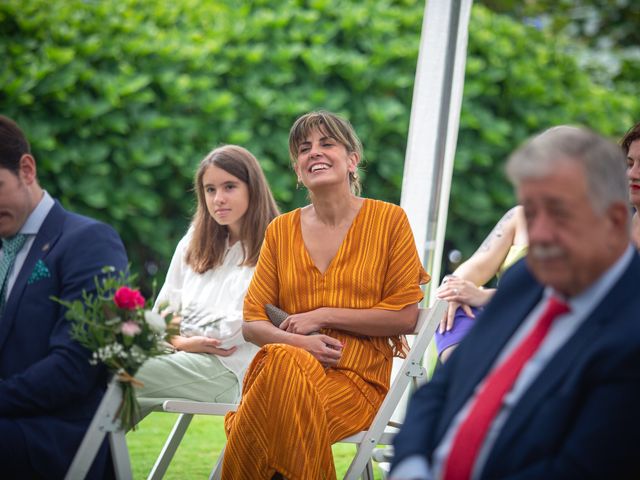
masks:
[[[113,268],[103,269],[103,274],[110,272]],[[95,292],[85,291],[71,302],[54,298],[68,309],[72,338],[93,352],[89,362],[103,363],[120,382],[117,416],[125,431],[135,428],[140,413],[134,387],[141,383],[134,376],[148,358],[167,353],[165,339],[174,333],[168,328],[172,315],[153,312],[153,302],[130,286],[134,279],[125,272],[96,277]]]

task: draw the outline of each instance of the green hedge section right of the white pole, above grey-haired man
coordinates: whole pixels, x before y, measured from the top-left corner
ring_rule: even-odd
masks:
[[[527,137],[568,123],[617,141],[640,114],[637,96],[595,83],[567,41],[473,10],[447,229],[465,256],[515,203],[503,166]]]

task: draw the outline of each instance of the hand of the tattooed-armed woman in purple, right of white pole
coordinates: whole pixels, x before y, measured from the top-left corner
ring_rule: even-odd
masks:
[[[471,307],[485,305],[491,299],[495,289],[482,289],[476,287],[473,282],[463,278],[450,276],[438,287],[436,296],[449,302],[447,314],[440,320],[438,331],[448,332],[453,328],[454,319],[458,307],[471,318],[475,318]]]

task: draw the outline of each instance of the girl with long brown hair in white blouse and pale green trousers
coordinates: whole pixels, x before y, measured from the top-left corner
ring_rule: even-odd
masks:
[[[242,304],[277,206],[258,161],[235,145],[202,160],[194,189],[196,213],[156,301],[180,313],[180,334],[170,340],[174,353],[136,375],[141,418],[168,399],[237,402],[258,350],[242,337]]]

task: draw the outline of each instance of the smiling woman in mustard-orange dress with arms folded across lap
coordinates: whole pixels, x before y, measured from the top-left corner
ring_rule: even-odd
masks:
[[[311,204],[271,223],[245,298],[243,333],[262,348],[225,419],[225,479],[334,479],[331,444],[373,420],[429,280],[404,211],[357,196],[349,122],[306,114],[289,151]],[[280,328],[266,304],[289,312]]]

